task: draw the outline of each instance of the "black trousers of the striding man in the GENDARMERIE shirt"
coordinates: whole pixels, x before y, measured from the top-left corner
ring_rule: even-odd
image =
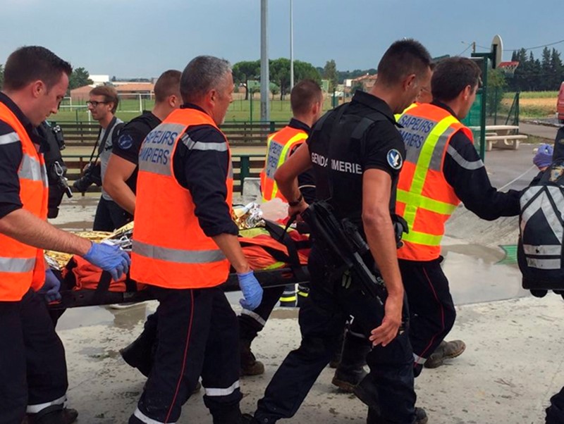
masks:
[[[350,285],[326,279],[326,266],[316,249],[309,256],[308,268],[309,297],[299,316],[302,343],[286,356],[259,400],[255,413],[259,423],[270,424],[294,416],[331,360],[350,315],[366,336],[384,318],[384,309],[376,299],[361,292],[355,278]],[[407,332],[386,347],[372,349],[367,354],[367,364],[375,382],[383,422],[415,423],[413,357]]]

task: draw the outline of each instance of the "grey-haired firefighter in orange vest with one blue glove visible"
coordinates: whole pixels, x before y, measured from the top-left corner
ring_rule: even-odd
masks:
[[[183,106],[139,153],[131,276],[159,300],[157,353],[129,423],[176,423],[202,376],[215,424],[240,421],[238,325],[221,284],[229,264],[253,310],[262,287],[231,219],[233,169],[223,122],[232,101],[227,61],[198,56],[180,77]]]

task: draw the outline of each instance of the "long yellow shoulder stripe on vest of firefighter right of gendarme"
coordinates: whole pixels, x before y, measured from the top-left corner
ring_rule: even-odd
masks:
[[[427,139],[423,142],[421,153],[419,154],[419,158],[417,158],[417,163],[415,164],[415,173],[413,174],[410,191],[407,194],[409,199],[405,202],[405,211],[403,213],[403,219],[407,221],[407,225],[410,228],[413,228],[413,223],[415,223],[415,215],[417,213],[417,208],[419,207],[419,205],[417,205],[417,200],[419,197],[422,197],[421,193],[423,191],[425,180],[427,179],[429,167],[431,166],[431,163],[436,163],[436,156],[439,156],[439,162],[441,161],[444,153],[444,146],[448,141],[448,137],[450,137],[450,134],[452,133],[450,125],[458,122],[458,119],[454,116],[444,118],[434,126],[433,130],[431,130],[427,136]],[[398,193],[399,192],[400,190],[398,190]],[[443,204],[443,202],[436,201],[435,206],[438,207],[438,204]],[[435,245],[441,244],[441,237],[439,237],[439,240]]]

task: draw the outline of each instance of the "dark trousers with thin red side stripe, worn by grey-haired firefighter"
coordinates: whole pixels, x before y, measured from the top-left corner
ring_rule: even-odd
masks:
[[[150,287],[159,301],[157,351],[130,423],[176,423],[202,376],[204,404],[214,423],[236,423],[239,389],[238,325],[219,287]]]

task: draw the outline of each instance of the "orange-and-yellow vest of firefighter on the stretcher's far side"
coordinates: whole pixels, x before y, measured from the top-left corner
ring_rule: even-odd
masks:
[[[260,173],[260,190],[262,201],[269,201],[276,197],[286,201],[274,180],[274,173],[290,157],[293,149],[305,142],[307,132],[287,125],[278,132],[269,135],[266,142],[266,160],[264,169]]]

